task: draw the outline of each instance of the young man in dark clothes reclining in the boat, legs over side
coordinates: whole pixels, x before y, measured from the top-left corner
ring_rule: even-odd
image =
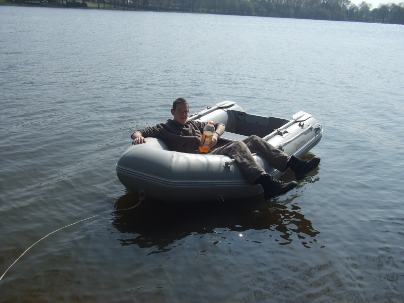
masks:
[[[145,138],[151,136],[165,140],[170,150],[190,154],[198,153],[199,142],[207,122],[187,120],[189,105],[184,98],[178,98],[174,101],[171,114],[174,119],[168,119],[166,122],[156,126],[135,131],[131,135],[133,143],[145,143]],[[215,123],[214,126],[216,132],[210,143],[211,148],[217,144],[220,134],[226,129],[226,126],[222,123]],[[290,168],[294,172],[296,180],[304,178],[320,163],[320,158],[318,157],[314,157],[310,161],[303,161],[294,156],[289,157],[283,151],[256,135],[210,150],[209,154],[211,155],[227,155],[234,159],[251,185],[261,184],[263,186],[264,197],[267,200],[293,189],[297,182],[284,183],[274,179],[257,163],[252,157],[252,153],[260,154],[273,168],[281,172]]]

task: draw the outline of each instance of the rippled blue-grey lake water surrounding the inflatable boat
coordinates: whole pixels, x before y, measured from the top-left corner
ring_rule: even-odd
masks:
[[[0,301],[404,301],[402,41],[398,25],[0,7]],[[140,201],[115,171],[130,134],[177,97],[311,113],[321,164],[271,202],[115,211]]]

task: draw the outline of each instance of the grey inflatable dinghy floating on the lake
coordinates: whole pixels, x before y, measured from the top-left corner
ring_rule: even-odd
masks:
[[[229,101],[190,115],[188,120],[226,125],[226,131],[214,148],[258,135],[298,158],[313,148],[323,135],[320,123],[308,113],[298,112],[291,120],[264,117],[246,113]],[[274,178],[282,175],[259,154],[253,155]],[[247,182],[228,156],[178,153],[169,150],[163,140],[152,137],[148,137],[146,143],[127,148],[116,170],[126,188],[140,196],[169,202],[223,201],[263,192],[261,185],[252,186]]]

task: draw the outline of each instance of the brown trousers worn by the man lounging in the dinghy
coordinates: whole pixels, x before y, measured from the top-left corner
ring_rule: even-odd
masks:
[[[252,135],[242,141],[233,141],[226,145],[213,149],[211,155],[227,155],[234,159],[241,173],[250,184],[253,184],[260,176],[266,174],[265,170],[257,163],[251,154],[258,153],[273,168],[284,172],[290,157],[282,150],[271,145],[259,136]]]

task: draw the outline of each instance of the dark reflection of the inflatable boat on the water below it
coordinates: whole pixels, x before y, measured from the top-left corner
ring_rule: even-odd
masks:
[[[291,174],[282,176],[283,179],[291,177]],[[318,180],[313,176],[306,179],[305,182]],[[300,183],[289,196],[280,196],[273,203],[261,196],[200,204],[164,203],[146,198],[134,210],[115,212],[112,224],[123,234],[119,239],[122,245],[154,247],[150,254],[169,251],[174,242],[190,235],[225,234],[229,231],[242,234],[249,230],[278,231],[280,239],[276,241],[279,245],[298,239],[310,248],[320,232],[293,204],[299,196],[297,192],[303,190],[301,184],[304,183]],[[138,194],[127,191],[116,201],[115,207],[127,209],[138,200]],[[226,237],[223,236],[222,240]],[[215,241],[216,238],[213,239],[214,244]]]

